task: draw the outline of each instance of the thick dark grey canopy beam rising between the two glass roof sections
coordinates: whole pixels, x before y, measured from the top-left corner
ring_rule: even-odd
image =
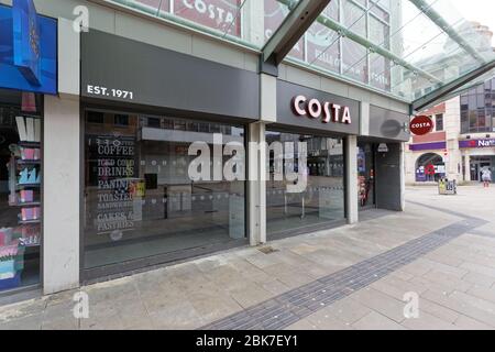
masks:
[[[290,9],[290,13],[263,47],[262,63],[278,66],[330,1],[280,1]]]

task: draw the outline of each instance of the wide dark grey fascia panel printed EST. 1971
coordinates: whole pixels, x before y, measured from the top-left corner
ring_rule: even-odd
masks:
[[[88,86],[105,87],[107,94],[91,94]],[[133,99],[116,97],[112,89],[132,92]],[[81,34],[81,96],[237,119],[260,117],[256,73],[95,30]]]

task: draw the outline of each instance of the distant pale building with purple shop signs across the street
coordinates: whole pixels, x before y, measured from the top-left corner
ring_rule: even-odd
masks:
[[[413,136],[406,150],[406,183],[482,182],[484,168],[495,172],[495,79],[474,87],[421,114],[433,132]]]

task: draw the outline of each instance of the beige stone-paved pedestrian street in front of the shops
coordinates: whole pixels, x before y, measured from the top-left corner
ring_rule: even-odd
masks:
[[[495,329],[495,188],[407,190],[404,213],[0,307],[0,329]],[[406,319],[405,295],[419,318]]]

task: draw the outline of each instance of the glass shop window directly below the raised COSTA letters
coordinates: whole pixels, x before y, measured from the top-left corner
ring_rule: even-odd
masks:
[[[341,140],[267,131],[266,142],[270,151],[270,179],[266,183],[268,237],[288,231],[310,231],[315,226],[331,226],[345,218]],[[301,145],[306,145],[307,153]],[[284,177],[280,177],[282,169],[285,170]],[[288,177],[290,173],[299,174],[298,180]],[[290,189],[289,186],[296,183],[302,184],[301,175],[307,176],[305,187]]]

